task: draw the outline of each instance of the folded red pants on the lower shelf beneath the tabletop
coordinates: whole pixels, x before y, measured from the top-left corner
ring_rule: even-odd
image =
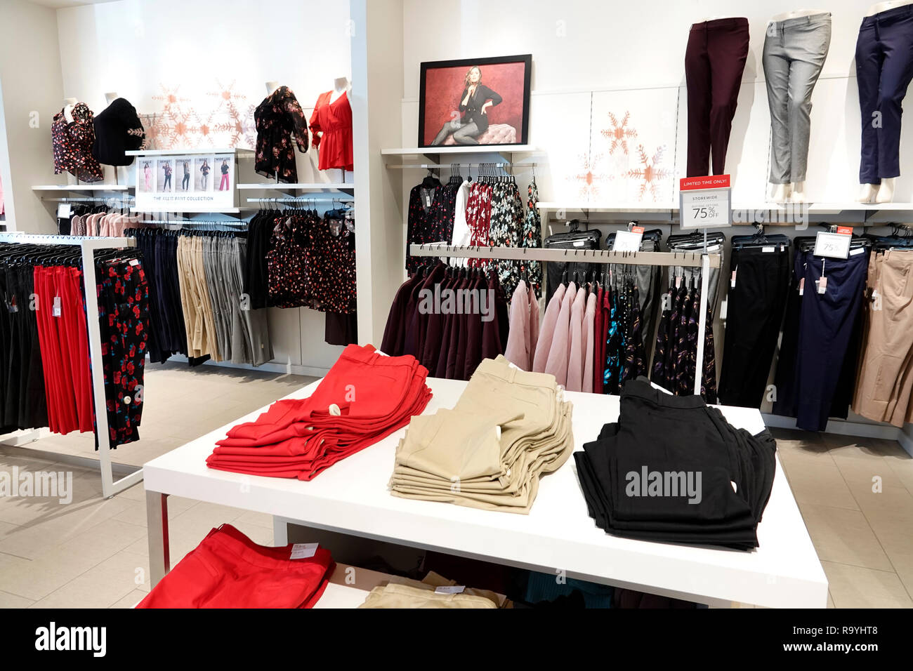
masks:
[[[223,524],[137,608],[312,608],[335,567],[330,550],[268,548]]]

